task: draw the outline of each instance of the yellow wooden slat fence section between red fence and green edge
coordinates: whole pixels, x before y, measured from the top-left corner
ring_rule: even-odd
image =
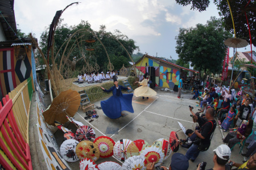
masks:
[[[13,113],[18,128],[26,143],[28,138],[28,122],[30,118],[30,104],[33,94],[31,77],[20,83],[13,91],[9,93],[10,99],[13,101]]]

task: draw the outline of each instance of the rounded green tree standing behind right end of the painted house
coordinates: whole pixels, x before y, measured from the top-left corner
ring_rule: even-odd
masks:
[[[226,51],[223,42],[229,36],[230,33],[222,28],[220,19],[212,17],[205,25],[180,28],[179,35],[175,37],[176,53],[180,62],[191,62],[200,73],[204,71],[206,75],[207,70],[220,73]]]

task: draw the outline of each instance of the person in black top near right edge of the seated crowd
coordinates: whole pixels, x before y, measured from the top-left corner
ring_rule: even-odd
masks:
[[[236,126],[240,127],[242,125],[243,120],[248,120],[249,115],[251,113],[251,107],[250,107],[250,99],[246,99],[245,104],[241,105],[237,116],[236,116],[236,120],[237,120],[237,124]]]

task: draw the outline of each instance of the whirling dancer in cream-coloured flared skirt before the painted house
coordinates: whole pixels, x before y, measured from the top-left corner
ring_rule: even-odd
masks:
[[[142,96],[142,99],[144,99],[144,97],[152,97],[152,96],[155,96],[156,95],[156,92],[154,90],[152,90],[152,88],[148,87],[147,86],[147,82],[148,82],[148,79],[147,79],[147,72],[143,75],[143,80],[142,82],[135,82],[135,83],[139,83],[141,84],[142,86],[141,87],[138,87],[134,90],[134,95],[136,97],[141,97]]]

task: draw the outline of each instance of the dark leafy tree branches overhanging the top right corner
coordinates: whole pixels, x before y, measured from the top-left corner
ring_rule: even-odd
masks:
[[[213,2],[220,11],[219,15],[222,18],[222,23],[225,29],[234,33],[234,27],[229,11],[228,2],[226,0],[214,0]],[[191,9],[199,10],[201,12],[207,10],[207,7],[210,4],[210,0],[176,0],[176,3],[183,6],[192,4]],[[246,20],[247,15],[251,32],[251,41],[252,44],[256,46],[256,1],[251,0],[248,5],[248,1],[229,1],[229,3],[234,18],[236,36],[241,39],[246,39],[248,42],[250,42],[249,29]]]

